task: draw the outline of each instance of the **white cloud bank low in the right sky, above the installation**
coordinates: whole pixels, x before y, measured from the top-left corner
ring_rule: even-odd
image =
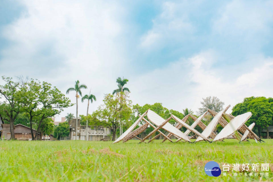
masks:
[[[245,97],[271,96],[273,58],[261,57],[251,70],[237,73],[239,76],[231,80],[226,78],[233,70],[219,72],[212,66],[217,59],[216,53],[209,50],[144,74],[133,80],[131,98],[141,105],[162,102],[169,109],[182,111],[188,107],[198,111],[202,98],[217,96],[226,106],[231,104],[231,112]]]

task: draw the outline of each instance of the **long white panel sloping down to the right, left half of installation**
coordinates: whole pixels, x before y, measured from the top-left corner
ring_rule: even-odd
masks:
[[[161,125],[165,121],[165,119],[163,119],[157,113],[155,113],[154,111],[151,111],[151,110],[148,110],[147,117],[156,126]],[[189,138],[184,133],[182,133],[179,129],[175,128],[170,123],[166,123],[166,125],[164,125],[162,127],[162,129],[168,131],[169,133],[172,133],[173,135],[176,135],[177,137],[182,138],[185,141],[191,142],[189,140]]]

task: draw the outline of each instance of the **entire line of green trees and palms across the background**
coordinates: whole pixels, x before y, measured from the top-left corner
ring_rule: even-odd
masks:
[[[67,137],[69,135],[68,123],[60,124],[54,127],[51,117],[61,113],[64,108],[73,106],[69,98],[65,97],[56,87],[50,83],[41,82],[34,79],[24,79],[18,77],[16,80],[2,76],[5,81],[4,85],[0,85],[0,117],[6,123],[23,124],[31,128],[32,140],[39,140],[38,135],[33,132],[33,129],[41,133],[41,137],[45,134],[54,133],[55,138]],[[123,129],[126,130],[132,123],[138,119],[138,114],[143,114],[147,109],[152,109],[162,118],[167,119],[170,114],[173,114],[182,119],[187,114],[194,115],[191,109],[185,108],[183,112],[163,107],[161,103],[138,104],[132,105],[130,100],[129,88],[125,87],[129,80],[126,78],[117,78],[118,88],[113,90],[112,94],[105,94],[103,104],[100,105],[92,114],[88,113],[89,104],[96,101],[96,97],[91,94],[83,95],[82,89],[86,89],[85,84],[80,84],[79,80],[75,82],[75,86],[67,89],[67,94],[71,91],[76,92],[76,118],[80,118],[81,125],[104,126],[111,130],[112,140],[115,140],[117,133],[121,135]],[[86,115],[78,115],[78,99],[81,101],[87,100]],[[220,101],[215,96],[203,98],[200,102],[201,107],[194,115],[198,117],[208,109],[221,111],[224,102]],[[267,138],[269,138],[268,127],[273,125],[273,98],[265,97],[249,97],[245,98],[242,103],[236,104],[232,109],[232,115],[237,116],[245,112],[251,112],[252,117],[247,121],[246,125],[255,122],[254,132],[261,136],[262,129],[267,130]],[[68,113],[66,120],[70,121],[74,118],[72,113]],[[146,118],[147,119],[147,118]],[[206,115],[203,122],[207,125],[212,120],[211,115]],[[171,119],[172,125],[176,122]],[[191,125],[193,119],[188,119],[188,124]],[[53,132],[54,129],[54,132]],[[200,128],[196,128],[202,132]],[[220,132],[222,127],[218,125],[216,132]],[[147,129],[152,130],[152,128]],[[181,129],[184,131],[185,129]],[[11,127],[11,139],[14,139],[14,128]],[[88,138],[88,137],[87,137]]]

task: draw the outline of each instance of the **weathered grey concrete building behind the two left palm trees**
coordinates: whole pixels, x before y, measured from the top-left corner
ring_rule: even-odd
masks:
[[[69,137],[71,140],[76,139],[75,134],[76,119],[69,122]],[[110,129],[101,126],[88,126],[88,140],[100,141],[102,139],[109,140]],[[72,136],[72,137],[71,137]],[[80,125],[80,119],[78,119],[78,136],[77,140],[86,140],[86,125]]]

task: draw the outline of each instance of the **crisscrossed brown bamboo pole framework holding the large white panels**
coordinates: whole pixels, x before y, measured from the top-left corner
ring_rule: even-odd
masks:
[[[230,107],[230,105],[228,106]],[[228,124],[228,121],[227,120],[232,120],[235,116],[233,115],[230,115],[230,114],[226,114],[226,110],[228,109],[228,107],[224,110],[222,116],[220,117],[220,119],[218,120],[217,123],[219,123],[223,128]],[[206,111],[202,117],[200,118],[197,118],[191,114],[188,114],[186,115],[183,119],[179,119],[178,117],[176,117],[175,115],[171,114],[171,117],[169,117],[168,119],[166,119],[163,123],[161,123],[160,125],[158,126],[154,126],[152,123],[150,123],[147,119],[144,118],[144,116],[147,115],[148,111],[150,109],[148,109],[147,111],[145,111],[142,115],[138,114],[139,118],[137,119],[137,121],[131,126],[129,127],[128,131],[125,131],[123,133],[123,135],[121,135],[117,140],[115,140],[113,143],[117,143],[117,142],[120,142],[121,140],[123,140],[123,142],[127,142],[128,140],[132,139],[133,137],[137,138],[140,140],[140,142],[145,142],[146,139],[148,139],[150,136],[152,136],[152,134],[154,134],[156,131],[159,132],[158,135],[156,135],[155,137],[151,138],[149,142],[153,141],[154,139],[158,138],[160,135],[162,135],[165,139],[162,141],[166,141],[166,140],[169,140],[170,142],[173,142],[169,137],[171,137],[172,135],[174,135],[177,140],[175,142],[178,142],[180,141],[182,138],[180,138],[179,136],[173,134],[173,133],[168,133],[167,135],[165,135],[164,133],[162,133],[159,129],[163,129],[162,127],[164,127],[164,125],[166,125],[170,119],[174,119],[177,124],[175,125],[175,128],[176,129],[181,129],[182,127],[186,127],[187,128],[187,131],[184,132],[185,135],[188,136],[188,134],[190,132],[193,132],[195,135],[194,136],[198,136],[198,137],[201,137],[202,140],[205,140],[205,141],[210,141],[210,139],[204,135],[202,135],[202,133],[199,133],[197,130],[195,130],[194,128],[198,125],[203,131],[206,129],[206,125],[201,121],[202,118],[207,114],[207,113],[210,113],[213,117],[215,117],[218,112],[216,111],[213,111],[211,109],[208,109],[208,111]],[[187,119],[191,117],[194,121],[196,121],[197,119],[199,119],[198,122],[194,122],[191,126],[187,125],[186,121]],[[225,119],[226,118],[226,119]],[[139,124],[140,121],[145,121],[145,124],[140,126],[139,128],[135,129],[133,131],[133,129]],[[133,127],[134,126],[134,127]],[[145,131],[147,129],[147,127],[150,126],[152,128],[154,128],[154,130],[152,132],[150,132],[146,137],[144,137],[143,139],[137,137],[137,135],[139,135],[140,133],[142,133],[143,131]],[[214,128],[215,129],[215,128]],[[252,131],[253,127],[252,128],[249,128],[247,127],[245,124],[243,124],[242,127],[240,127],[237,131],[240,131],[241,133],[244,133],[244,134],[247,134],[247,137],[251,138],[251,139],[256,139],[258,141],[263,141],[261,140],[253,131]],[[242,138],[243,135],[237,132],[238,135],[235,135],[233,134],[232,136],[234,138],[236,138],[237,140],[243,140],[243,141],[248,141],[246,140],[247,137],[245,137],[244,139]],[[193,136],[193,137],[194,137]],[[214,139],[216,137],[216,134],[214,133],[214,130],[212,131],[212,133],[210,133],[209,135],[210,138]],[[191,137],[192,138],[192,137]],[[200,141],[202,141],[200,140]],[[241,141],[240,141],[241,142]],[[264,142],[264,141],[263,141]]]

